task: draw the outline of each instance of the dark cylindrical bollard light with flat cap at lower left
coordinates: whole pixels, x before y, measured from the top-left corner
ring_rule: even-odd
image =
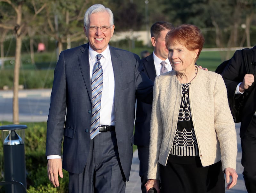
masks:
[[[6,193],[27,192],[25,165],[25,130],[27,125],[0,126],[4,149],[4,182]]]

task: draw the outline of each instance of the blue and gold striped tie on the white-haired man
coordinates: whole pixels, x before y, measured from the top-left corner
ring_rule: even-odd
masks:
[[[90,139],[99,134],[100,127],[100,104],[103,87],[103,70],[100,64],[101,54],[98,54],[97,61],[94,64],[92,72],[92,122],[90,130]]]

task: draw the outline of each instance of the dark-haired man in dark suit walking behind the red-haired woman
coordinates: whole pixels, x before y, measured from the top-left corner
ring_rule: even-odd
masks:
[[[144,73],[154,82],[155,77],[162,72],[172,70],[170,61],[168,60],[168,50],[165,47],[165,36],[167,32],[173,30],[174,27],[171,23],[165,21],[158,21],[150,28],[151,43],[154,46],[152,54],[142,59],[140,66],[144,69]],[[161,62],[165,65],[161,65]],[[151,104],[143,103],[138,99],[136,120],[135,120],[135,133],[134,145],[138,147],[138,157],[140,160],[140,178],[141,190],[146,193],[145,183],[148,181],[148,152],[149,152],[149,130],[151,118]]]

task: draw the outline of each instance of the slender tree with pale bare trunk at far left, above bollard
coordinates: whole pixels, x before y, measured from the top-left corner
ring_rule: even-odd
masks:
[[[0,0],[3,7],[0,9],[0,27],[8,30],[13,30],[16,38],[15,48],[15,67],[13,75],[13,123],[19,124],[19,103],[18,103],[18,87],[20,74],[21,60],[21,44],[22,39],[28,30],[30,21],[36,20],[37,14],[44,9],[46,3],[32,0],[27,3],[24,0]],[[38,9],[39,7],[39,9]],[[5,12],[6,8],[9,12]]]

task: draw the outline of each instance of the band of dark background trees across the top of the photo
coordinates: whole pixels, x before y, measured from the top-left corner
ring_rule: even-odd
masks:
[[[30,38],[51,37],[58,43],[59,52],[72,47],[72,42],[85,40],[84,13],[92,4],[98,3],[113,11],[115,31],[148,30],[148,26],[164,20],[175,26],[183,23],[197,25],[207,35],[206,43],[211,47],[255,44],[252,37],[252,30],[256,30],[255,0],[148,0],[148,4],[144,0],[1,0],[0,28],[8,28],[9,34],[13,34],[18,25],[15,9],[7,2],[12,2],[13,6],[23,4],[22,25],[30,26]],[[46,4],[44,10],[37,14],[36,20],[31,19],[42,4]],[[23,28],[24,34],[26,29]]]

